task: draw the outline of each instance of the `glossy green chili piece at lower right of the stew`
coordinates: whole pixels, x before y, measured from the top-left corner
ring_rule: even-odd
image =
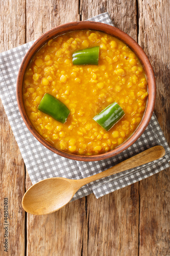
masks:
[[[112,126],[125,115],[123,109],[114,102],[107,106],[99,115],[93,117],[93,120],[99,123],[106,131],[109,131]]]

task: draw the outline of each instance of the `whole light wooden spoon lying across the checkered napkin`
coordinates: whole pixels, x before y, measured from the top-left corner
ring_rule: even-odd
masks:
[[[51,214],[66,205],[75,193],[87,183],[152,162],[163,157],[164,154],[165,150],[162,146],[154,146],[102,173],[84,179],[49,178],[39,181],[30,187],[23,196],[22,207],[34,215]]]

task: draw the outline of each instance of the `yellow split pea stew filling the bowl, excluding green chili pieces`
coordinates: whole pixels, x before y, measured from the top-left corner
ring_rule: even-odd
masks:
[[[74,65],[72,54],[93,47],[99,48],[98,65]],[[134,133],[145,111],[148,86],[139,59],[124,42],[103,32],[79,30],[49,40],[33,56],[22,93],[27,115],[46,141],[68,153],[98,155]],[[65,122],[38,109],[48,94],[68,109]],[[125,114],[107,131],[93,118],[114,102]]]

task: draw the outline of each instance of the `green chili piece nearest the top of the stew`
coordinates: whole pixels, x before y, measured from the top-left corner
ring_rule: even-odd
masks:
[[[80,50],[72,54],[72,63],[74,65],[98,65],[99,46]]]

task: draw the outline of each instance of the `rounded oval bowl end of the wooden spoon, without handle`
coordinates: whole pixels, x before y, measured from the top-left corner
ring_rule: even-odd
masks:
[[[70,181],[64,178],[50,178],[39,181],[30,187],[27,194],[23,196],[23,209],[34,215],[48,214],[59,210],[75,194]]]

